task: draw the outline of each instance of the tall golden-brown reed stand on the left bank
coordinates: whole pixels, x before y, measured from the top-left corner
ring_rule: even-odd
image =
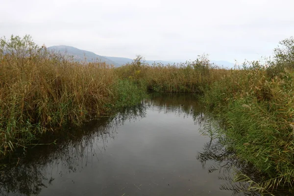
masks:
[[[105,63],[78,63],[36,46],[29,36],[0,40],[0,156],[37,142],[52,127],[111,112],[136,91]],[[141,96],[141,94],[140,94]],[[117,104],[117,105],[116,105]]]

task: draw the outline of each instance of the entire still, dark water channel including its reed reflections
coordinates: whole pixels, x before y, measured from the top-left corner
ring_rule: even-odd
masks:
[[[46,138],[56,145],[4,161],[0,194],[230,196],[238,186],[230,183],[234,161],[201,135],[204,119],[192,95],[155,95],[115,117],[56,130]]]

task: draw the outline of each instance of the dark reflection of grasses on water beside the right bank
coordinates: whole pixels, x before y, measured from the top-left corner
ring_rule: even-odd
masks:
[[[214,132],[217,133],[217,132]],[[226,148],[226,139],[224,137],[211,137],[211,140],[206,143],[201,152],[198,152],[197,159],[205,168],[206,162],[214,161],[214,164],[209,166],[208,172],[220,172],[219,179],[228,181],[221,185],[221,190],[230,190],[232,195],[260,196],[259,193],[250,191],[249,184],[245,182],[235,182],[240,174],[250,177],[255,182],[261,182],[265,176],[254,168],[251,164],[241,161],[234,153],[234,150]],[[279,195],[274,193],[274,195]]]

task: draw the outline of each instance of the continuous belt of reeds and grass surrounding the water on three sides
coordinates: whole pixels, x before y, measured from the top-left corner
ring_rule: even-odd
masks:
[[[200,56],[194,62],[148,65],[138,56],[114,68],[75,62],[36,46],[29,36],[0,40],[0,156],[47,131],[77,125],[131,105],[155,92],[204,94],[222,123],[227,146],[266,176],[249,189],[293,193],[294,40],[281,42],[273,60],[221,69]]]

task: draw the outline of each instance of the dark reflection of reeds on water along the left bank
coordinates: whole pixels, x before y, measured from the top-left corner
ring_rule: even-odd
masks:
[[[62,167],[60,175],[62,172],[82,170],[93,157],[98,159],[94,149],[103,152],[108,140],[115,137],[118,126],[127,120],[138,120],[145,116],[146,106],[141,104],[125,109],[116,116],[87,123],[81,128],[47,134],[40,143],[51,143],[57,139],[56,145],[27,149],[25,154],[15,153],[1,161],[0,195],[38,195],[42,188],[54,181],[48,177],[48,168]]]

